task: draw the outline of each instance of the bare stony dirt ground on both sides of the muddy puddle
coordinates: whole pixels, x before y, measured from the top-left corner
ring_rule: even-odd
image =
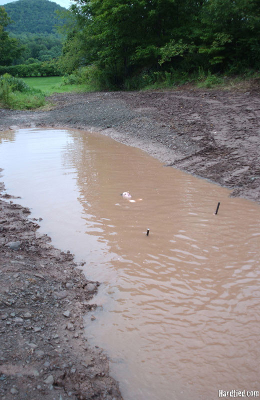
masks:
[[[100,131],[260,202],[260,95],[250,91],[54,94],[45,111],[0,109],[0,130]],[[0,185],[2,399],[121,399],[102,349],[84,337],[98,282],[37,232],[40,221]],[[36,223],[37,222],[37,223]]]

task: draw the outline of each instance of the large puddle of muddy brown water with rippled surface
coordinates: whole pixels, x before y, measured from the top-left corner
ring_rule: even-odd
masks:
[[[100,134],[20,129],[0,139],[7,191],[103,282],[86,330],[125,400],[260,390],[258,204]],[[136,202],[120,196],[127,190]]]

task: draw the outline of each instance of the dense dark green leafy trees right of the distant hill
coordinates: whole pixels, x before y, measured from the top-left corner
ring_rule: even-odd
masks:
[[[94,64],[107,87],[260,67],[259,0],[75,1],[61,67]]]

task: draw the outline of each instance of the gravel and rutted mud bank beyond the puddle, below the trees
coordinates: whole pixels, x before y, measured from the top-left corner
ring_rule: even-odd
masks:
[[[260,201],[260,95],[250,91],[54,94],[48,111],[0,109],[12,125],[98,130]]]

